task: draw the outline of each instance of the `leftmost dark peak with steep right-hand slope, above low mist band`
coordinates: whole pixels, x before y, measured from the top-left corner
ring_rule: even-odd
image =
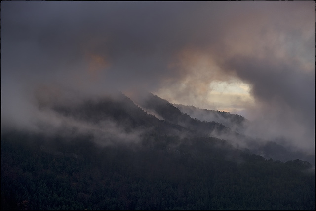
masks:
[[[135,131],[168,135],[189,133],[187,128],[148,114],[123,93],[97,99],[84,98],[76,103],[53,102],[41,109],[57,115],[65,129],[79,131],[90,128],[91,135],[94,135],[95,130],[103,133],[118,130],[126,135],[132,135]],[[112,138],[115,139],[115,134]]]

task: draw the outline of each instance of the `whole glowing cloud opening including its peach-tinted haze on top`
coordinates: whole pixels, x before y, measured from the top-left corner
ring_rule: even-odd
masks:
[[[172,64],[181,74],[155,93],[171,103],[240,114],[254,104],[249,84],[224,71],[212,55],[186,48]],[[171,91],[172,90],[172,91]]]

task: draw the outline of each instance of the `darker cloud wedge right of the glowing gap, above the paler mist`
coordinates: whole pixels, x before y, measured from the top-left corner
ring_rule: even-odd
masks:
[[[253,84],[252,93],[269,102],[278,100],[301,112],[313,111],[315,101],[314,72],[302,72],[294,62],[269,61],[256,58],[234,58],[227,62],[237,75]]]

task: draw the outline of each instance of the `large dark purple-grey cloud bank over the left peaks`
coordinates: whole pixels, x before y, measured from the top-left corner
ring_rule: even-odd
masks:
[[[2,1],[4,114],[17,112],[11,105],[24,105],[42,84],[94,94],[110,87],[152,91],[165,78],[179,78],[181,70],[168,66],[200,37],[207,14],[199,8],[193,2]]]

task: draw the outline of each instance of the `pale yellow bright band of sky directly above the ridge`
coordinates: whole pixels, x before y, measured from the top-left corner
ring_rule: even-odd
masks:
[[[251,87],[239,80],[212,81],[209,84],[198,84],[195,92],[186,92],[192,84],[187,81],[172,84],[159,89],[155,94],[171,103],[193,105],[201,109],[226,111],[239,114],[254,104]],[[173,90],[173,91],[170,91]],[[178,90],[174,91],[174,90]],[[184,90],[184,91],[183,91]]]

